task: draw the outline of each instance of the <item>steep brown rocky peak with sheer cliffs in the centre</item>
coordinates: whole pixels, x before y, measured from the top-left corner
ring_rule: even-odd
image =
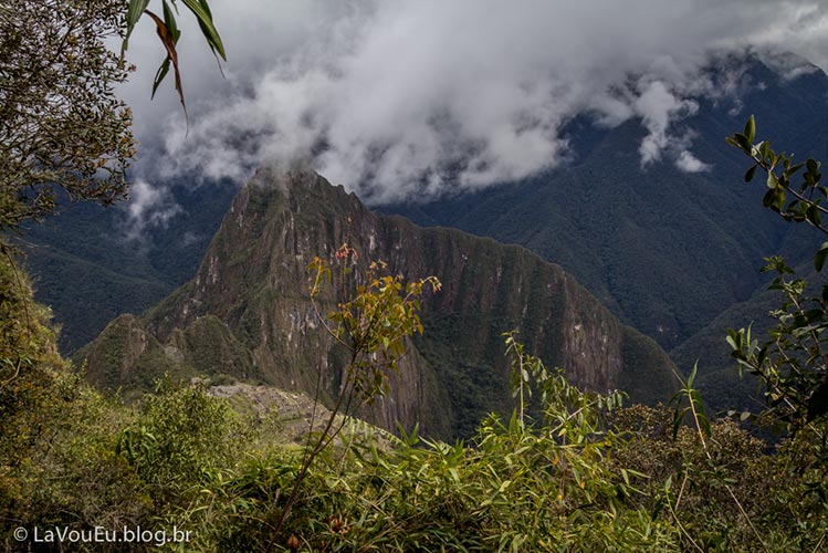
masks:
[[[565,237],[562,237],[565,240]],[[303,166],[260,169],[241,190],[195,279],[140,319],[113,321],[82,355],[98,384],[147,385],[164,372],[211,374],[323,397],[339,384],[343,352],[319,330],[307,264],[348,242],[406,278],[436,275],[389,397],[364,414],[386,428],[469,434],[486,411],[511,409],[501,333],[518,328],[530,351],[578,385],[621,387],[633,400],[671,392],[671,362],[620,324],[559,267],[527,250],[460,231],[418,228],[368,211],[353,194]],[[323,298],[333,301],[333,298]]]

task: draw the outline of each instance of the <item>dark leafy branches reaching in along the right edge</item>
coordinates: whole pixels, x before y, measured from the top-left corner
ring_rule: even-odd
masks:
[[[745,181],[762,170],[766,174],[767,190],[762,199],[766,208],[786,221],[804,222],[828,234],[828,227],[822,223],[822,216],[828,215],[824,205],[828,187],[821,184],[821,164],[814,158],[795,164],[793,155],[774,152],[769,140],[754,144],[755,137],[756,122],[751,116],[744,133],[727,138],[729,144],[753,160]],[[797,184],[799,171],[803,173]],[[822,270],[826,257],[828,242],[814,254],[817,272]],[[740,368],[762,382],[769,407],[765,415],[785,422],[790,430],[811,428],[820,434],[813,428],[813,421],[828,415],[828,284],[816,293],[804,279],[796,278],[796,271],[782,257],[765,261],[763,271],[775,273],[771,290],[783,296],[782,305],[771,313],[777,324],[762,344],[753,338],[750,327],[730,330],[727,343]]]

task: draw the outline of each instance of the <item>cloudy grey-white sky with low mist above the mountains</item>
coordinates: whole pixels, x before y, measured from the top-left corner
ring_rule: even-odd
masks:
[[[179,2],[180,3],[180,2]],[[711,82],[714,52],[794,52],[828,69],[828,3],[813,0],[210,0],[223,76],[181,4],[179,59],[150,102],[164,52],[148,18],[120,91],[140,140],[129,217],[179,211],[172,177],[245,181],[263,163],[310,159],[369,204],[428,200],[566,163],[578,114],[637,121],[642,167],[708,170],[675,123]],[[160,1],[149,9],[160,12]],[[803,71],[798,61],[783,71]]]

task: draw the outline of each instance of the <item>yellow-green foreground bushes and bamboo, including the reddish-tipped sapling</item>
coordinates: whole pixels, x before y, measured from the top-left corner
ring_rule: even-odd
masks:
[[[200,552],[818,551],[828,540],[825,417],[771,447],[734,421],[708,420],[692,376],[674,414],[622,408],[621,394],[574,387],[510,334],[507,421],[486,416],[452,445],[332,416],[301,445],[281,436],[277,418],[238,414],[200,385],[161,379],[134,407],[106,399],[56,355],[24,275],[0,267],[11,322],[0,328],[7,550],[31,543],[15,541],[18,528],[31,536],[64,525],[165,530],[161,551]],[[361,383],[360,401],[381,392],[401,353],[391,336],[419,330],[415,304],[405,306],[411,289],[366,282],[329,317],[357,359],[344,389]]]

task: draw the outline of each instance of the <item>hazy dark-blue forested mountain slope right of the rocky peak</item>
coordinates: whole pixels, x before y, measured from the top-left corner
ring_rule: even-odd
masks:
[[[758,58],[724,59],[710,71],[733,67],[742,67],[735,85],[744,94],[737,101],[699,98],[698,112],[683,122],[704,170],[641,166],[640,125],[601,129],[583,117],[569,126],[577,150],[566,167],[382,210],[525,246],[575,274],[622,321],[675,347],[762,288],[764,257],[786,253],[799,262],[818,238],[766,212],[761,190],[743,182],[750,165],[724,137],[753,113],[761,137],[767,134],[803,158],[821,154],[828,77],[816,67],[780,74]]]

